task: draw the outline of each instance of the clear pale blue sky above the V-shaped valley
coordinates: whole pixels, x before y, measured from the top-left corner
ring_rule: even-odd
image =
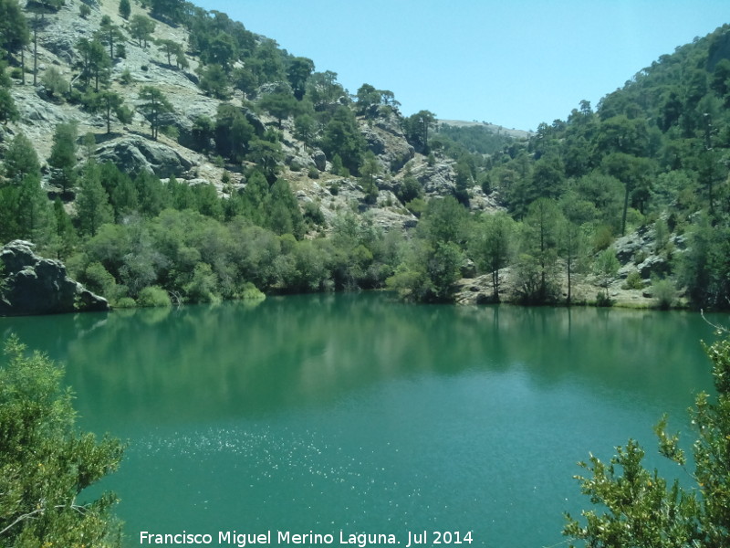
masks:
[[[535,130],[595,107],[641,68],[730,22],[727,0],[193,0],[350,93],[391,90],[401,112]]]

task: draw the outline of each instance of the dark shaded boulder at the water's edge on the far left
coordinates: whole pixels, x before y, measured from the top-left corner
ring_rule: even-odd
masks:
[[[0,316],[109,310],[106,299],[68,278],[60,261],[38,257],[33,248],[14,240],[0,250]]]

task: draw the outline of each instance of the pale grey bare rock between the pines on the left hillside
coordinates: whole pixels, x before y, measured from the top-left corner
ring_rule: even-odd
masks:
[[[85,17],[79,15],[82,5],[90,7]],[[94,156],[101,162],[110,161],[129,174],[147,170],[162,179],[174,175],[189,184],[214,184],[221,195],[241,191],[245,188],[245,165],[224,162],[214,150],[200,150],[194,146],[196,123],[200,120],[215,121],[219,106],[225,102],[242,107],[245,118],[263,133],[268,128],[280,132],[283,159],[280,161],[281,175],[286,177],[297,195],[300,205],[315,202],[326,219],[335,216],[343,208],[353,208],[360,213],[370,211],[375,224],[384,228],[412,227],[416,217],[399,200],[399,190],[405,174],[412,174],[424,189],[425,196],[449,195],[454,190],[454,160],[445,155],[432,156],[430,162],[416,152],[402,129],[402,117],[396,109],[370,110],[368,116],[359,115],[359,131],[367,142],[367,148],[377,157],[381,169],[375,182],[380,190],[375,201],[367,200],[361,181],[357,177],[342,177],[330,174],[332,158],[318,148],[305,145],[295,136],[294,116],[277,120],[264,109],[257,107],[257,101],[276,89],[271,83],[260,86],[253,94],[244,97],[241,90],[232,89],[225,100],[212,97],[200,87],[201,59],[190,47],[188,30],[182,25],[169,25],[163,20],[154,21],[154,41],[145,43],[134,39],[130,21],[135,16],[148,16],[148,10],[131,4],[131,13],[122,18],[118,2],[104,0],[85,2],[67,0],[57,13],[44,16],[44,22],[37,34],[36,85],[32,85],[32,60],[26,53],[25,84],[14,79],[12,97],[16,101],[19,120],[0,130],[2,143],[7,143],[19,132],[23,132],[36,147],[38,158],[43,163],[51,153],[52,135],[59,123],[77,122],[79,145],[83,137],[92,134],[96,146]],[[78,97],[63,97],[57,91],[47,89],[47,75],[50,71],[59,73],[61,79],[73,84],[79,78],[79,66],[84,62],[78,44],[81,40],[91,41],[102,24],[111,24],[121,29],[124,58],[115,57],[110,67],[108,89],[122,96],[133,115],[130,121],[110,121],[107,132],[107,117],[104,111],[92,112],[85,109]],[[263,37],[257,37],[264,40]],[[184,47],[186,68],[180,63],[168,63],[162,41],[171,40]],[[33,44],[28,48],[32,49]],[[17,55],[15,61],[17,62]],[[238,66],[243,65],[237,61]],[[17,72],[14,76],[18,76]],[[143,100],[140,92],[146,86],[162,91],[172,105],[172,112],[163,114],[163,131],[158,139],[151,138],[150,121],[139,110]],[[245,100],[247,99],[247,100]],[[85,160],[84,147],[78,147],[78,162]],[[44,187],[57,195],[59,189],[49,184],[49,170],[43,166]],[[357,174],[353,174],[357,175]],[[224,181],[225,180],[225,184]],[[337,194],[330,192],[333,186]],[[474,187],[470,204],[475,209],[493,209],[494,199]],[[73,210],[72,205],[68,205]]]

